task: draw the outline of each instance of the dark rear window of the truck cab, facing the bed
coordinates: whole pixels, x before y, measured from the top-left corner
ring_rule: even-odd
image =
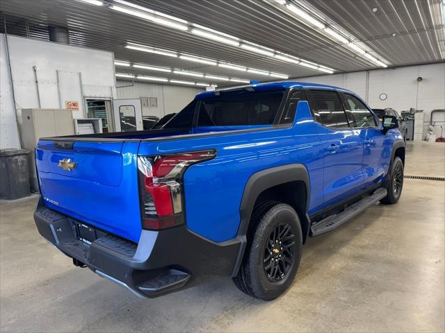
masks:
[[[197,126],[246,126],[273,123],[284,92],[236,92],[202,99]]]

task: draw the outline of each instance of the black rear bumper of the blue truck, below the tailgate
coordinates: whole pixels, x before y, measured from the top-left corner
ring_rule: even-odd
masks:
[[[140,297],[161,296],[214,275],[230,276],[241,250],[238,239],[214,243],[186,226],[143,230],[138,244],[102,232],[86,244],[79,240],[74,220],[50,210],[42,199],[34,220],[42,237],[65,255]]]

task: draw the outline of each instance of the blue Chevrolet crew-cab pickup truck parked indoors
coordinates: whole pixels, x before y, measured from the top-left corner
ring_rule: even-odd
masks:
[[[42,138],[42,236],[141,297],[214,275],[273,300],[308,237],[401,196],[405,143],[353,92],[282,82],[202,92],[163,128]]]

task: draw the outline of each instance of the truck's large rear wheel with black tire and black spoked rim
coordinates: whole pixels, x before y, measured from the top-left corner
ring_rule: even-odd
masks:
[[[289,288],[300,265],[300,219],[291,206],[266,201],[254,207],[250,223],[243,262],[233,280],[243,293],[273,300]]]

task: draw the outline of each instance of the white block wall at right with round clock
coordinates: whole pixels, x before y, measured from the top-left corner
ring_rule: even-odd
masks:
[[[416,78],[423,80],[418,83]],[[430,124],[430,114],[435,109],[445,109],[445,64],[378,69],[348,74],[332,74],[298,78],[299,81],[337,85],[350,89],[371,106],[371,108],[394,108],[403,110],[423,110],[423,134]],[[380,94],[387,94],[380,101]],[[445,114],[435,114],[436,125],[445,127]],[[435,134],[440,135],[440,127],[435,126]]]

